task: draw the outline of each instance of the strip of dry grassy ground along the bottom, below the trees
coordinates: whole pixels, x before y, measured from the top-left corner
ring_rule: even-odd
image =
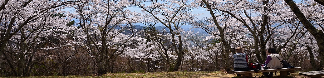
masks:
[[[262,73],[253,73],[256,78],[262,77]],[[7,77],[17,78],[17,77]],[[147,72],[147,73],[108,73],[102,76],[31,76],[18,78],[237,78],[234,73],[226,72]],[[272,78],[308,78],[299,75],[298,72],[291,73],[289,77],[281,77],[280,73]]]

